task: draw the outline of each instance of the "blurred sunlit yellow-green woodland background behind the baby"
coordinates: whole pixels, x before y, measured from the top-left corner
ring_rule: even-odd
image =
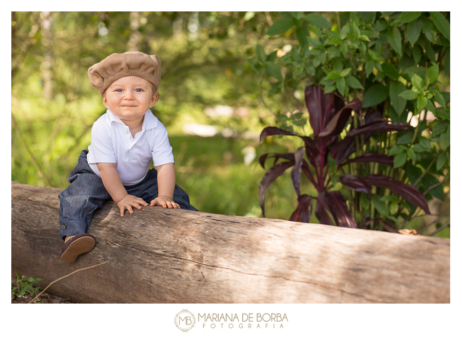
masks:
[[[295,15],[299,15],[299,20],[314,17],[310,14]],[[351,15],[356,23],[354,14],[322,13],[325,21],[318,24],[327,22],[331,28],[345,26],[347,21],[351,22]],[[300,143],[295,139],[267,138],[260,144],[258,135],[263,127],[277,122],[294,125],[310,134],[302,93],[303,76],[311,69],[303,67],[310,67],[323,57],[310,54],[310,62],[290,58],[296,57],[295,50],[300,47],[301,35],[295,25],[281,35],[266,35],[270,27],[284,19],[293,20],[293,15],[274,12],[12,12],[11,179],[65,188],[67,176],[81,150],[88,147],[92,123],[105,112],[98,92],[89,84],[88,67],[114,52],[140,50],[158,54],[162,61],[160,101],[155,114],[169,131],[177,181],[190,195],[191,203],[203,212],[261,216],[258,182],[264,170],[255,158],[268,151],[295,152]],[[426,19],[433,22],[431,17]],[[389,19],[384,17],[368,23],[368,18],[360,16],[357,20],[358,28],[367,31],[367,25]],[[310,25],[315,30],[328,31]],[[430,38],[427,39],[433,44],[433,37],[440,35],[438,29],[435,33],[435,27],[428,27],[427,20],[423,20],[423,26],[426,27],[425,36],[428,34]],[[351,31],[354,33],[354,28]],[[363,41],[362,35],[359,41]],[[305,36],[307,40],[302,38],[302,43],[313,43],[311,39],[315,37]],[[353,40],[353,37],[348,39]],[[418,41],[416,45],[421,46]],[[318,49],[327,52],[324,47]],[[333,47],[340,49],[340,53],[344,49],[341,42]],[[443,47],[449,49],[449,46]],[[421,62],[424,62],[429,56],[424,53],[425,46],[420,48]],[[401,53],[407,55],[406,46]],[[417,58],[417,52],[414,54]],[[413,58],[414,54],[411,51]],[[260,77],[254,72],[255,55],[266,57],[267,73],[262,72]],[[287,56],[284,58],[284,55]],[[380,77],[381,73],[385,74],[380,70],[380,63],[376,64],[382,62],[381,56],[379,53],[373,56],[365,57],[374,60],[378,71],[373,68],[374,76]],[[347,59],[341,55],[339,59],[341,66],[346,68]],[[277,73],[281,68],[276,69],[271,64],[280,65],[280,61],[287,64]],[[337,67],[340,63],[337,62]],[[436,63],[444,66],[440,60]],[[335,70],[335,63],[327,66]],[[292,74],[291,85],[288,85],[287,69]],[[397,69],[402,72],[400,67]],[[342,77],[345,83],[348,75],[350,73]],[[438,80],[438,85],[449,86],[449,77],[438,77]],[[343,88],[342,80],[337,81]],[[348,83],[352,83],[350,79]],[[348,88],[352,89],[344,94],[359,90],[354,88],[357,83],[350,84]],[[337,89],[337,83],[335,85]],[[364,88],[363,83],[362,86]],[[204,113],[219,106],[232,107],[233,112],[227,115]],[[403,118],[405,114],[400,116]],[[183,128],[187,123],[213,125],[217,134],[213,137],[185,135]],[[449,133],[449,127],[443,126],[438,127],[440,135]],[[416,144],[413,141],[401,145],[406,145],[408,151]],[[449,160],[444,164],[449,170]],[[443,186],[449,189],[449,183]],[[303,180],[302,187],[305,191],[311,188]],[[287,175],[269,187],[266,216],[285,219],[290,216],[296,200],[291,189]],[[448,195],[445,194],[446,198]],[[408,226],[423,228],[426,222]],[[435,223],[427,232],[434,229]],[[449,233],[442,231],[438,235],[448,236]]]

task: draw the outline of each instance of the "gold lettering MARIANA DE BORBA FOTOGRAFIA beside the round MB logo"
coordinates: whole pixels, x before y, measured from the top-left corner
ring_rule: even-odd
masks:
[[[198,323],[202,323],[202,328],[219,329],[283,329],[283,323],[288,322],[286,314],[281,313],[199,313]]]

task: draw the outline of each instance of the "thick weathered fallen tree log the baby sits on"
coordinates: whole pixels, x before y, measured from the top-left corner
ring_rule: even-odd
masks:
[[[11,263],[76,303],[449,303],[450,239],[143,207],[95,213],[59,258],[59,188],[11,186]]]

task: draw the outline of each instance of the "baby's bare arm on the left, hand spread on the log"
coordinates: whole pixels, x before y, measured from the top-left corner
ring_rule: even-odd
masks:
[[[121,217],[124,216],[125,209],[128,210],[128,213],[132,214],[132,207],[141,209],[141,205],[148,205],[148,203],[143,199],[127,193],[127,190],[122,184],[119,173],[115,170],[115,163],[97,163],[97,166],[100,171],[104,187],[106,187],[106,191],[109,193],[112,200],[117,202],[117,205],[120,208]]]

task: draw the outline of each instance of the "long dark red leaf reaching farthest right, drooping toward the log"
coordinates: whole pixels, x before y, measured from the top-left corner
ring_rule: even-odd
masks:
[[[414,186],[407,185],[401,181],[394,180],[389,176],[383,176],[378,174],[371,174],[365,176],[365,182],[369,185],[385,187],[390,189],[393,193],[398,196],[406,199],[410,203],[422,208],[426,214],[430,214],[430,209],[428,208],[427,200],[424,195]]]

